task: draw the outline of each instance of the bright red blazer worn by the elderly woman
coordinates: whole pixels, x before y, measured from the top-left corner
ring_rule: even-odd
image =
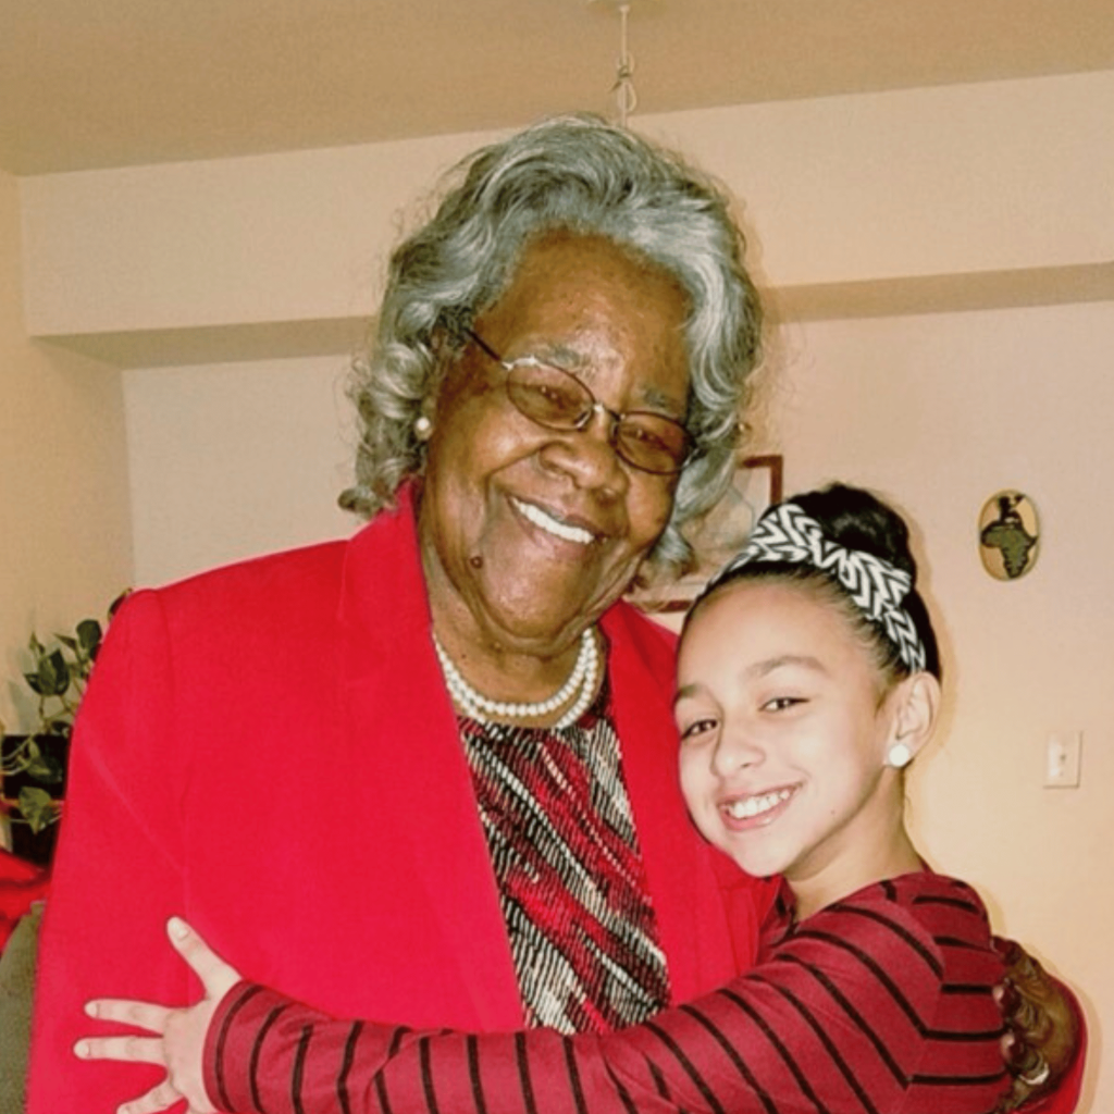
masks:
[[[673,642],[604,619],[625,773],[678,999],[753,960],[677,789]],[[248,978],[341,1015],[482,1030],[521,1007],[410,500],[348,543],[260,558],[115,617],[81,710],[39,952],[30,1114],[109,1111],[159,1073],[77,1061],[95,996],[196,993],[182,913]]]

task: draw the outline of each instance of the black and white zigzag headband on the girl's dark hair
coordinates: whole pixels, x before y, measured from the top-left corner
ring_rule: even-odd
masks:
[[[873,554],[831,541],[820,524],[795,502],[782,502],[755,522],[746,545],[709,580],[701,595],[707,595],[744,565],[759,561],[812,565],[833,577],[868,618],[882,624],[901,661],[913,673],[925,668],[925,645],[901,606],[912,588],[908,573]]]

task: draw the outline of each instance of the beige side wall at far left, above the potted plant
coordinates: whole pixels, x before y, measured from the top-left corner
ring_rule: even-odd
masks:
[[[120,374],[28,336],[19,212],[0,174],[0,719],[12,730],[31,629],[102,614],[131,578]]]

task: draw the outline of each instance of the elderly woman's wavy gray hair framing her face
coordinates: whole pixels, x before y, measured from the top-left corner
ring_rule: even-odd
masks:
[[[525,248],[555,231],[603,236],[652,260],[686,292],[695,451],[649,555],[658,571],[692,563],[681,532],[730,482],[762,307],[723,190],[676,155],[589,116],[545,120],[457,167],[433,217],[391,256],[370,351],[353,365],[356,482],[342,507],[371,516],[424,469],[414,422],[437,388],[443,344],[494,305]]]

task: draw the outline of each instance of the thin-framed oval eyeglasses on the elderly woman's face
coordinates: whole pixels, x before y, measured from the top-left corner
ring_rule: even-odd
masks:
[[[530,421],[564,432],[584,430],[595,413],[612,419],[608,444],[632,468],[655,476],[676,476],[692,452],[692,437],[681,422],[652,410],[616,413],[569,371],[534,355],[504,360],[470,329],[463,332],[507,372],[507,397]]]

